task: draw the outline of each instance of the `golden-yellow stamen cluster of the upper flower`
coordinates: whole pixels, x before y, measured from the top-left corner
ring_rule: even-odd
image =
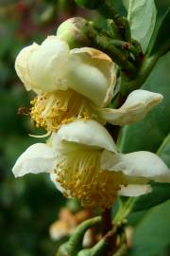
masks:
[[[89,119],[87,100],[73,90],[43,92],[31,101],[31,118],[36,127],[55,132],[73,119]]]

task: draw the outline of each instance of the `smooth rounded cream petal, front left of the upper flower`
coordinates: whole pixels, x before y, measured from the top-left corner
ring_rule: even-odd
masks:
[[[28,60],[28,75],[35,88],[44,91],[67,89],[64,74],[69,57],[69,46],[56,36],[48,36]]]

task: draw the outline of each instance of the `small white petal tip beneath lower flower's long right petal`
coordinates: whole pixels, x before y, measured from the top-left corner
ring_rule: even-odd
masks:
[[[150,185],[127,185],[121,186],[121,190],[118,192],[119,195],[123,196],[139,196],[143,195],[144,193],[151,192],[151,186]]]

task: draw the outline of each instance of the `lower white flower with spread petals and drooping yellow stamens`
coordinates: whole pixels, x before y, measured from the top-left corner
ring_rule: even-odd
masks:
[[[119,192],[138,196],[150,192],[149,181],[170,182],[170,171],[150,152],[119,154],[108,131],[94,120],[61,125],[46,144],[30,146],[13,174],[49,173],[65,196],[85,207],[110,208]]]

